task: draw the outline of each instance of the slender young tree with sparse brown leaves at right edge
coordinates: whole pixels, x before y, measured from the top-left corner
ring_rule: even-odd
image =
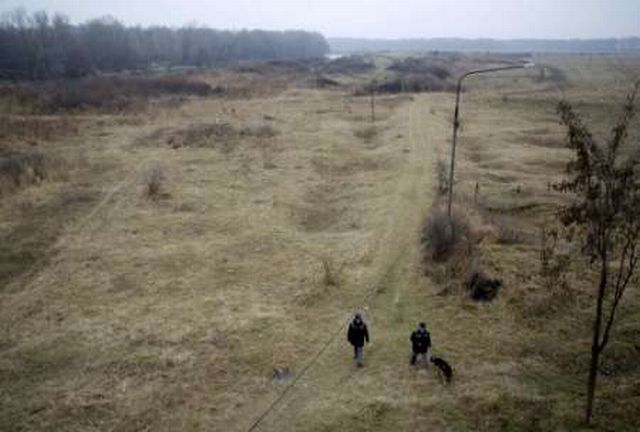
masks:
[[[567,146],[575,151],[575,159],[567,165],[568,178],[556,185],[574,198],[563,208],[561,220],[581,229],[583,251],[598,273],[587,423],[593,414],[600,355],[609,342],[616,311],[640,258],[640,153],[624,147],[639,87],[640,81],[627,97],[612,136],[604,144],[596,142],[569,103],[558,106],[567,127]]]

